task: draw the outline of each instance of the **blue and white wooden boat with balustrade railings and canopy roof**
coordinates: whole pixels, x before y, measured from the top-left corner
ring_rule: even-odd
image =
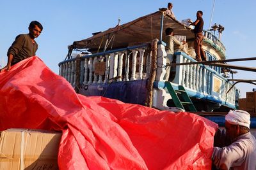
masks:
[[[236,109],[239,90],[230,89],[233,83],[225,78],[220,67],[172,66],[170,79],[164,80],[166,43],[163,31],[167,27],[174,29],[180,41],[186,39],[188,46],[193,46],[191,28],[159,9],[126,24],[96,32],[90,38],[74,41],[68,46],[67,57],[59,64],[60,75],[85,96],[104,96],[142,105],[151,100],[152,107],[159,110],[173,110],[173,107],[186,111]],[[156,38],[154,49],[151,43]],[[225,59],[225,46],[211,31],[204,31],[203,48],[207,60]],[[186,52],[175,52],[172,64],[189,62],[196,60]],[[153,88],[150,88],[152,82]],[[150,93],[152,97],[148,97]]]

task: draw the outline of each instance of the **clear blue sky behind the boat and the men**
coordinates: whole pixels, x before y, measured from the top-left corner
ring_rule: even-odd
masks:
[[[178,20],[195,20],[197,10],[204,11],[204,29],[209,28],[213,0],[130,0],[130,1],[86,1],[86,0],[9,0],[0,5],[0,64],[6,64],[6,51],[18,34],[28,32],[31,20],[38,20],[44,31],[36,39],[39,48],[36,55],[58,73],[58,62],[65,59],[67,46],[73,41],[88,38],[92,32],[115,27],[118,18],[121,24],[147,15],[158,8],[173,3],[173,12]],[[227,59],[256,57],[255,17],[256,1],[216,0],[212,24],[225,27],[222,41],[227,48]],[[229,62],[239,66],[256,67],[256,61]],[[238,71],[234,78],[256,79],[256,73]],[[252,91],[255,85],[240,83],[241,97]]]

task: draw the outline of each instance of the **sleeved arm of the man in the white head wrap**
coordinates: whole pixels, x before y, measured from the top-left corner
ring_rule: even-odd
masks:
[[[232,166],[240,166],[245,159],[246,145],[243,142],[232,143],[230,146],[214,147],[212,163],[220,169],[230,169]],[[236,165],[234,165],[234,162]]]

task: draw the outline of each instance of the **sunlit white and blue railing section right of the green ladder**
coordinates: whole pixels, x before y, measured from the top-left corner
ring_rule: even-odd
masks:
[[[186,53],[177,52],[177,63],[196,62]],[[232,88],[232,82],[224,78],[220,73],[203,64],[188,64],[176,66],[175,77],[172,81],[197,93],[211,95],[216,99],[222,99],[228,103],[235,104],[236,89]]]

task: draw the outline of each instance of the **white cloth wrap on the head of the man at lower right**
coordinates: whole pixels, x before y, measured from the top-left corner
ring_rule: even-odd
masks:
[[[242,125],[250,129],[250,113],[243,110],[230,110],[225,120],[232,125]]]

